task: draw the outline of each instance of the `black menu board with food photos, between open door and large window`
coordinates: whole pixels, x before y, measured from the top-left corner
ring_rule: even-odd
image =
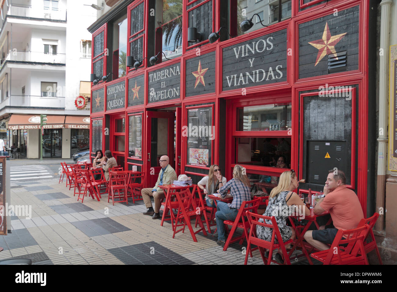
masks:
[[[204,167],[211,165],[214,128],[211,106],[187,110],[187,127],[182,131],[182,135],[187,136],[187,164]]]

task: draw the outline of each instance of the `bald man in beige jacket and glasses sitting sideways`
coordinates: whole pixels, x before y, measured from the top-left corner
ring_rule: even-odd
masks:
[[[161,170],[158,174],[156,185],[153,188],[145,188],[141,191],[145,206],[146,208],[148,208],[148,210],[144,212],[143,215],[153,215],[152,219],[157,219],[160,217],[161,199],[164,199],[166,197],[164,195],[164,190],[160,189],[159,186],[172,184],[172,182],[177,179],[176,172],[172,168],[172,166],[169,165],[169,163],[170,158],[167,155],[163,155],[162,157],[160,157]],[[150,197],[154,198],[154,210]]]

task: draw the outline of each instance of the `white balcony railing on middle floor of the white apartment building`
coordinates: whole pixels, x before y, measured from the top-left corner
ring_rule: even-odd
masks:
[[[21,61],[21,62],[42,62],[65,64],[66,54],[45,54],[43,52],[26,52],[10,50],[5,61]]]

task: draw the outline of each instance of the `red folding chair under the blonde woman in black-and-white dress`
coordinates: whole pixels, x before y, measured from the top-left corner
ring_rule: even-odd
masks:
[[[290,244],[291,242],[293,242],[293,240],[290,239],[286,242],[283,242],[283,238],[281,237],[280,230],[278,229],[276,218],[274,216],[272,216],[272,217],[262,216],[262,215],[255,214],[255,213],[252,213],[249,211],[247,211],[245,214],[248,218],[251,228],[250,228],[249,237],[248,237],[247,252],[245,254],[244,265],[247,265],[248,254],[251,253],[251,251],[252,251],[251,244],[254,244],[259,248],[260,255],[261,255],[263,263],[265,265],[270,265],[270,263],[279,264],[277,261],[272,259],[273,251],[275,249],[281,249],[281,253],[283,254],[283,257],[284,257],[284,262],[287,265],[291,265],[291,262],[289,261],[287,249],[285,249],[285,246],[287,244]],[[264,223],[258,221],[261,218],[263,219]],[[267,224],[265,220],[270,220],[272,222],[272,224]],[[266,240],[258,238],[258,236],[256,235],[256,226],[258,226],[258,225],[273,229],[272,230],[272,241],[266,241]],[[275,243],[276,238],[278,241],[277,244]],[[269,249],[269,255],[267,258],[265,257],[265,249]],[[252,257],[252,255],[251,255],[251,257]]]

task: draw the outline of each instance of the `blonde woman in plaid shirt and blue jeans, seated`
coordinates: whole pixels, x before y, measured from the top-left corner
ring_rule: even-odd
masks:
[[[230,190],[230,195],[226,196],[227,191]],[[244,173],[244,168],[236,164],[233,168],[233,178],[229,180],[222,188],[219,189],[222,199],[233,197],[231,203],[219,201],[217,205],[216,227],[218,228],[217,244],[225,245],[225,225],[224,220],[234,221],[239,213],[239,209],[243,201],[251,200],[250,182],[247,174]]]

